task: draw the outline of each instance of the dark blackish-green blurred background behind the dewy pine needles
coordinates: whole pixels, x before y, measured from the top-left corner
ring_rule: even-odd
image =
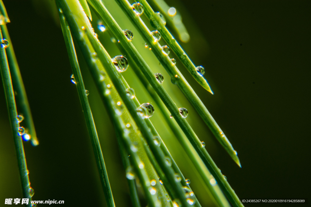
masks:
[[[63,206],[105,206],[77,91],[70,82],[72,72],[63,35],[45,1],[53,2],[3,0],[40,143],[33,147],[24,142],[33,199],[64,200]],[[309,197],[310,1],[170,0],[168,4],[181,12],[191,37],[182,46],[195,65],[205,67],[205,77],[215,94],[204,91],[180,62],[177,66],[238,151],[241,169],[186,99],[176,97],[187,106],[190,124],[207,143],[207,151],[236,194],[240,198]],[[108,50],[115,53],[110,38],[106,42],[111,47]],[[83,59],[79,61],[115,203],[128,206],[130,198],[113,126]],[[132,82],[129,80],[130,85]],[[177,91],[168,78],[165,83]],[[148,101],[144,98],[141,102]],[[155,125],[157,120],[151,118]],[[180,155],[183,153],[174,146],[168,148],[185,177],[191,179],[202,206],[213,206]],[[22,195],[1,84],[0,206],[5,198]]]

